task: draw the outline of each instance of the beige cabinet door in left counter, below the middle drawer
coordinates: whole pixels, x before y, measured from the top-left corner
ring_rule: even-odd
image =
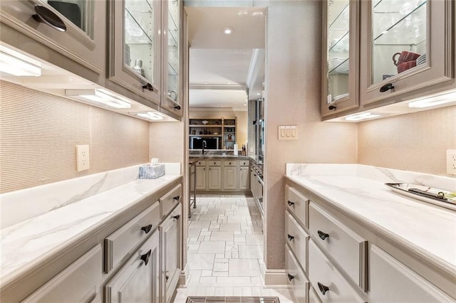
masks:
[[[105,302],[160,302],[159,243],[155,230],[105,285]]]

